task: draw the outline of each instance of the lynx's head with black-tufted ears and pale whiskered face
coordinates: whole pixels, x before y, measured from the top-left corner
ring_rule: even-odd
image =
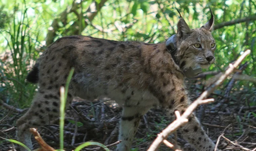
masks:
[[[210,9],[211,11],[211,9]],[[182,69],[200,65],[208,68],[214,63],[215,40],[211,34],[213,31],[214,16],[211,11],[211,19],[201,28],[190,29],[183,18],[178,22],[177,52],[175,54],[178,64]]]

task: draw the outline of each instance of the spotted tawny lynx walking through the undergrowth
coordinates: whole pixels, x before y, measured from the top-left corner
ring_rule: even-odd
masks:
[[[59,116],[60,87],[66,83],[71,67],[67,105],[73,97],[92,100],[108,96],[123,107],[117,151],[129,151],[140,118],[154,106],[168,115],[183,113],[190,104],[184,71],[195,65],[214,63],[214,16],[202,27],[190,29],[178,21],[176,51],[170,53],[166,42],[113,41],[89,36],[58,39],[40,56],[27,81],[39,88],[30,109],[17,120],[18,140],[32,149],[29,128],[37,128]],[[198,151],[213,151],[214,142],[202,129],[195,115],[180,128],[183,137]]]

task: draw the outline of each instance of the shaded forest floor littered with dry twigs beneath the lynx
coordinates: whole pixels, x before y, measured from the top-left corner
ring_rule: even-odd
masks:
[[[189,82],[190,96],[195,100],[202,93],[202,84],[198,80]],[[247,89],[230,91],[228,97],[224,96],[227,86],[215,91],[209,98],[214,98],[212,104],[201,105],[196,110],[201,124],[206,133],[216,143],[219,136],[219,144],[227,144],[223,150],[256,150],[256,106],[248,106],[248,100],[255,97],[255,92],[249,92]],[[217,105],[220,102],[222,104]],[[93,106],[92,106],[93,105]],[[83,110],[83,111],[82,111]],[[12,109],[7,110],[0,104],[0,137],[16,140],[15,131],[16,120],[21,117],[25,110]],[[78,112],[82,111],[80,114]],[[71,151],[78,145],[86,141],[100,142],[109,145],[118,140],[119,119],[122,108],[114,101],[97,100],[93,103],[82,99],[74,99],[71,106],[68,107],[65,116],[64,128],[64,148]],[[46,124],[38,129],[42,138],[53,148],[59,148],[59,121],[58,119],[51,124]],[[76,123],[76,124],[75,124]],[[146,151],[151,143],[169,123],[168,118],[161,108],[151,109],[141,119],[138,132],[132,144],[133,151]],[[188,144],[178,132],[177,144],[182,146],[184,151],[193,151],[193,147]],[[175,140],[175,136],[168,137],[170,142]],[[35,139],[32,139],[34,148],[38,147]],[[84,150],[98,150],[96,146],[87,147]],[[0,138],[0,151],[18,149],[17,145],[4,141]],[[116,145],[109,147],[114,150]],[[101,149],[103,150],[103,149]],[[161,145],[159,151],[170,150],[165,145]]]

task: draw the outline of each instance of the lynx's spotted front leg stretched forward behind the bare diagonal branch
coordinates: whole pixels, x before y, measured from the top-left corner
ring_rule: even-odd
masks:
[[[160,72],[161,73],[161,72]],[[162,73],[159,75],[161,79],[152,85],[151,92],[158,98],[162,106],[169,112],[171,116],[174,111],[178,110],[181,114],[190,105],[190,100],[186,94],[182,76],[173,75],[172,73]],[[156,89],[158,88],[158,89]],[[215,144],[205,134],[199,121],[192,114],[188,123],[180,128],[183,137],[198,151],[214,151]]]

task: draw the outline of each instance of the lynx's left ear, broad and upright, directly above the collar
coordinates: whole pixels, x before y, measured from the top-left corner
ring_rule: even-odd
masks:
[[[179,38],[186,39],[187,35],[189,33],[191,33],[191,30],[188,27],[188,24],[186,23],[186,21],[183,18],[180,18],[180,20],[179,20],[179,22],[177,24],[177,27],[178,27],[177,34],[178,34]]]

